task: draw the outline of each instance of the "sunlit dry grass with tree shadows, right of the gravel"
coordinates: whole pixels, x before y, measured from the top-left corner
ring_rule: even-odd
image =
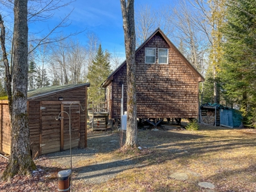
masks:
[[[151,145],[151,153],[132,156],[141,167],[125,170],[100,186],[92,185],[92,191],[209,190],[200,188],[198,182],[211,182],[214,191],[256,191],[253,129],[200,125],[196,132],[141,131],[139,136],[141,146]],[[186,173],[188,180],[170,178],[175,172]]]

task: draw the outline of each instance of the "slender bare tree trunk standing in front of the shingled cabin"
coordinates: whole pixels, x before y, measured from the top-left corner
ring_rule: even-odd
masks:
[[[136,35],[134,26],[134,0],[120,0],[123,22],[125,54],[127,63],[127,131],[125,147],[137,147],[137,105],[136,105]]]

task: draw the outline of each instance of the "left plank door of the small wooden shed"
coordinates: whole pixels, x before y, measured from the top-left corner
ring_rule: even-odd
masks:
[[[60,104],[42,104],[41,105],[41,135],[40,152],[47,154],[60,151],[60,127],[61,121],[56,117],[61,111]]]

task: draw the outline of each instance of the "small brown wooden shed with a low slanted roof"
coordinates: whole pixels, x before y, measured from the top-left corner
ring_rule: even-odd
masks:
[[[90,83],[47,86],[28,92],[28,124],[33,157],[87,146],[87,88]],[[57,119],[57,120],[56,120]],[[10,154],[8,101],[0,101],[0,152]]]

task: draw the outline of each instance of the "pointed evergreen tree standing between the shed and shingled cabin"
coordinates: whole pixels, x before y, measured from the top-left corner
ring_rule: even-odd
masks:
[[[111,73],[109,58],[109,52],[102,51],[101,45],[99,45],[97,55],[95,56],[92,65],[88,67],[87,79],[88,82],[90,82],[90,88],[88,90],[90,101],[104,101],[104,88],[101,88],[100,85]]]

